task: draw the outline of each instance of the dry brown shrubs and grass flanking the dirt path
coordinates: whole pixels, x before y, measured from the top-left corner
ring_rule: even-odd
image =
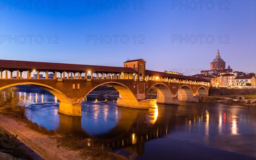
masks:
[[[89,159],[92,160],[134,160],[136,158],[137,154],[132,154],[127,158],[118,153],[113,153],[110,149],[97,142],[97,140],[90,138],[90,145],[88,145],[87,139],[85,138],[77,137],[73,134],[62,135],[56,133],[54,130],[48,130],[42,124],[38,125],[30,121],[26,115],[28,109],[25,105],[26,98],[20,98],[19,95],[17,95],[17,91],[17,87],[10,87],[0,91],[0,113],[14,118],[16,121],[25,122],[30,129],[56,138],[59,146],[80,151],[81,156],[89,157]],[[20,99],[23,99],[23,101]],[[7,132],[0,130],[0,152],[11,154],[16,158],[32,160],[29,153],[26,153],[25,150],[18,147],[20,142],[18,142],[17,136],[18,135],[10,136]]]

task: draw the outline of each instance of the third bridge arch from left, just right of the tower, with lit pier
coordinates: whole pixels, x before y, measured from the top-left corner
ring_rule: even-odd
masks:
[[[152,94],[151,96],[154,97],[154,94],[157,92],[157,103],[162,104],[177,104],[177,98],[172,95],[171,90],[169,89],[166,84],[157,83],[151,86],[148,90],[147,95]]]

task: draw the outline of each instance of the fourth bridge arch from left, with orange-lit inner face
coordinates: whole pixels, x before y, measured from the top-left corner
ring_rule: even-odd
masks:
[[[181,86],[176,95],[178,96],[179,101],[198,102],[198,97],[194,97],[191,88],[186,85]]]

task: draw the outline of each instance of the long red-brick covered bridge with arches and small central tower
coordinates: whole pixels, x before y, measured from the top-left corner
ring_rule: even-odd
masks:
[[[81,116],[81,102],[95,88],[108,84],[120,94],[117,106],[148,108],[146,95],[157,89],[157,103],[198,102],[198,95],[208,95],[209,81],[145,69],[145,61],[124,62],[124,67],[74,65],[49,62],[0,60],[0,90],[30,84],[55,95],[59,111]]]

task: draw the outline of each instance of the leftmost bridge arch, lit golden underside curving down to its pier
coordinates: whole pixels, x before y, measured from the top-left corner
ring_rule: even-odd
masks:
[[[22,83],[9,84],[9,85],[6,85],[4,87],[0,87],[0,90],[2,90],[4,88],[13,87],[13,86],[17,86],[17,85],[24,85],[24,84],[29,84],[29,85],[34,85],[34,86],[41,87],[41,88],[49,91],[53,95],[55,95],[60,102],[67,103],[67,104],[72,104],[72,101],[70,101],[70,99],[67,98],[67,96],[64,95],[61,91],[56,90],[55,88],[53,88],[51,86],[48,86],[48,85],[45,85],[45,84],[40,84],[40,83],[35,83],[35,82],[22,82]]]

